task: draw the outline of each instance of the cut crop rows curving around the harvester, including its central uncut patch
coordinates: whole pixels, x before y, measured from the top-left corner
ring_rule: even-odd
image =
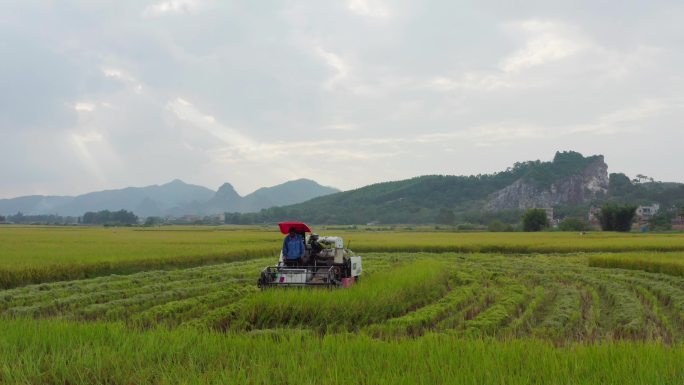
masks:
[[[566,341],[684,336],[684,278],[588,267],[582,256],[365,255],[348,290],[256,290],[266,260],[41,284],[0,294],[5,317],[221,331],[298,328],[381,338],[430,332]],[[126,288],[126,285],[129,285]]]

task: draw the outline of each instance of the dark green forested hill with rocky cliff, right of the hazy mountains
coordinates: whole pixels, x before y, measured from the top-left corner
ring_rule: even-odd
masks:
[[[439,223],[446,216],[447,222],[449,217],[461,223],[487,223],[495,218],[515,222],[521,210],[528,207],[555,207],[559,212],[584,216],[589,205],[613,199],[611,182],[625,182],[624,175],[609,177],[607,170],[603,156],[558,152],[551,162],[519,162],[495,174],[428,175],[378,183],[296,205],[232,214],[227,220],[229,223],[302,220],[314,224],[419,224]],[[626,195],[629,193],[641,194],[639,199],[644,203],[649,200],[647,188],[635,186],[629,178],[627,184],[617,191],[616,199],[631,199]],[[660,195],[673,195],[670,198],[674,201],[684,203],[683,185],[667,184],[663,189],[666,192],[660,191]]]

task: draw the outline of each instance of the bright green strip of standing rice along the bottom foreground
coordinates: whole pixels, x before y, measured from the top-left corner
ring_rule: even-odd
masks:
[[[684,347],[0,321],[3,384],[677,384]]]

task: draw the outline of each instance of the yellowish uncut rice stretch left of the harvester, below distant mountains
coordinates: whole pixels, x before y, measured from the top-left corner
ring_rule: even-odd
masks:
[[[254,228],[3,226],[0,289],[274,256],[279,238],[276,232]]]

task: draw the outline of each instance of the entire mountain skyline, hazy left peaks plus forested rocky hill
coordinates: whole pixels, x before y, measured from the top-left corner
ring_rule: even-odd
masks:
[[[174,180],[76,197],[27,196],[0,200],[0,214],[81,216],[129,210],[141,217],[231,213],[228,223],[302,220],[312,224],[516,223],[527,208],[553,208],[558,217],[586,218],[605,202],[684,206],[684,184],[631,180],[608,173],[602,155],[556,152],[551,161],[517,162],[504,171],[471,176],[425,175],[339,191],[299,179],[240,196],[232,185],[217,191]],[[449,220],[450,221],[450,220]]]

